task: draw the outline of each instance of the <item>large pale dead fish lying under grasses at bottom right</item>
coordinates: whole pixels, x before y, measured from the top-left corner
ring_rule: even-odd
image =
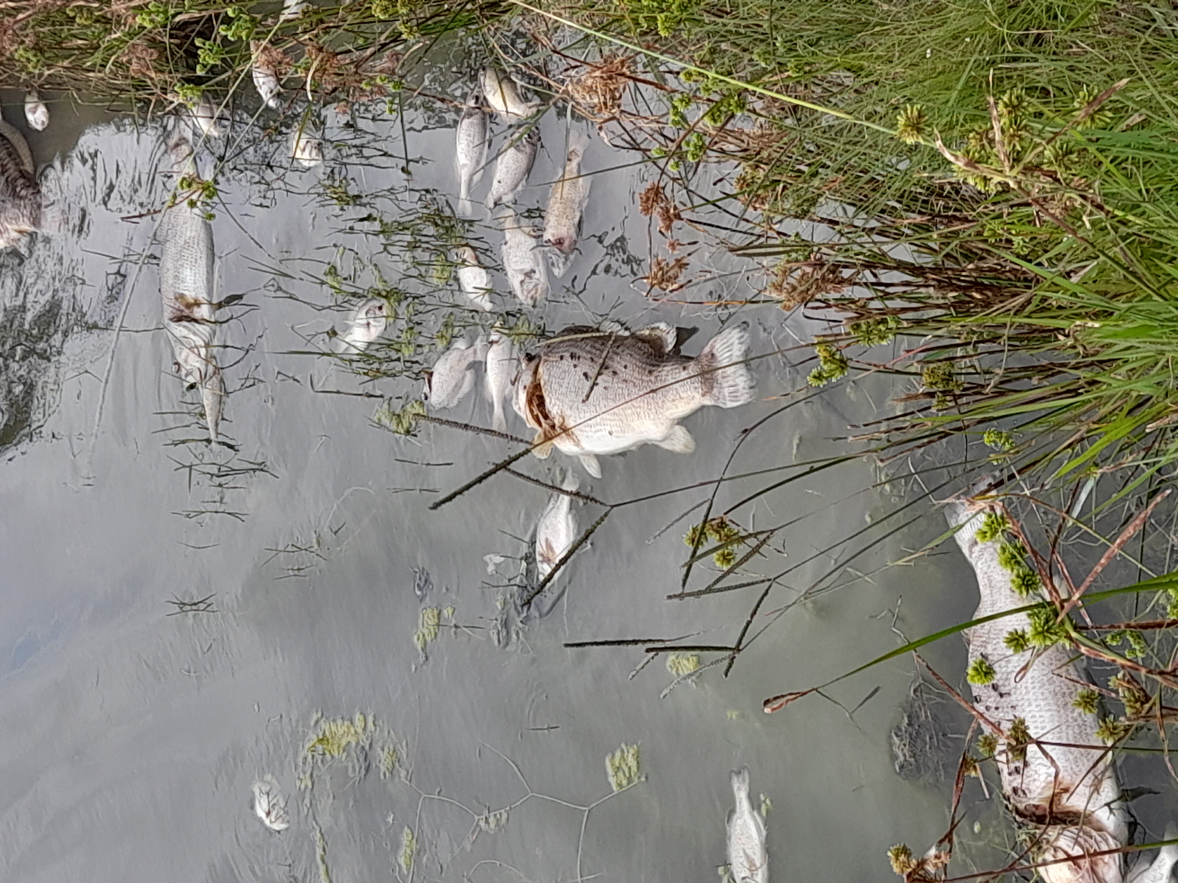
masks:
[[[980,603],[974,618],[1002,613],[1026,605],[1011,585],[1011,573],[999,563],[1000,539],[978,540],[984,504],[955,500],[946,507],[949,526],[978,578]],[[984,685],[972,684],[974,705],[988,721],[1010,730],[1014,718],[1026,722],[1032,742],[1019,752],[999,741],[995,761],[1002,791],[1021,819],[1041,819],[1039,869],[1047,883],[1120,883],[1117,850],[1129,839],[1129,814],[1121,802],[1113,758],[1097,735],[1097,715],[1085,713],[1073,702],[1087,683],[1085,666],[1072,659],[1066,644],[1046,650],[1012,652],[1004,638],[1012,630],[1031,630],[1026,613],[1013,613],[980,623],[966,632],[971,665],[985,660],[994,671]],[[1052,824],[1074,815],[1083,822]],[[1088,857],[1091,856],[1091,857]],[[1070,858],[1060,862],[1058,859]]]

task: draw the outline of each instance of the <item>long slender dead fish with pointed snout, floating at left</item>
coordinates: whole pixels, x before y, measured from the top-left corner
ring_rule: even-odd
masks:
[[[192,145],[177,139],[171,146],[178,179],[197,178]],[[200,389],[209,437],[225,406],[225,381],[217,366],[217,324],[213,318],[213,231],[199,205],[183,198],[164,211],[157,233],[160,241],[159,291],[164,327],[172,340],[180,377]]]

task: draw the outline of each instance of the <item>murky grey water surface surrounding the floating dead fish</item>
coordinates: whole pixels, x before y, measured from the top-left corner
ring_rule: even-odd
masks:
[[[13,109],[5,108],[9,119]],[[783,325],[769,307],[747,311],[755,353],[787,350],[755,363],[760,400],[688,418],[690,456],[644,447],[604,458],[600,480],[582,473],[582,489],[610,503],[688,490],[616,510],[571,560],[547,616],[518,623],[505,599],[548,492],[498,474],[429,510],[517,447],[431,425],[405,438],[372,421],[385,400],[396,409],[419,394],[417,374],[437,352],[428,334],[424,351],[404,360],[412,377],[363,378],[315,354],[330,351],[327,330],[343,330],[357,303],[340,291],[375,284],[373,264],[388,283],[418,292],[423,333],[446,312],[458,327],[494,319],[468,310],[454,286],[431,288],[428,267],[409,279],[411,235],[389,232],[423,206],[452,201],[452,132],[410,117],[403,140],[391,117],[345,121],[329,112],[327,162],[312,171],[290,167],[284,135],[238,133],[212,206],[218,294],[243,296],[221,330],[229,447],[203,440],[197,394],[171,373],[154,260],[144,258],[158,246],[154,215],[141,215],[167,194],[159,127],[99,121],[73,144],[77,127],[55,109],[58,134],[32,141],[42,162],[61,153],[62,187],[75,200],[66,230],[0,268],[4,333],[19,324],[33,336],[28,358],[39,360],[26,372],[27,393],[11,397],[29,418],[0,438],[8,878],[712,879],[726,861],[728,770],[740,765],[752,769],[754,796],[772,802],[777,879],[889,879],[887,847],[922,848],[940,835],[948,785],[894,770],[888,733],[909,692],[909,660],[832,688],[841,706],[810,697],[761,712],[768,696],[896,646],[898,631],[916,637],[973,610],[955,557],[881,570],[941,532],[937,517],[846,569],[846,549],[803,563],[894,509],[899,497],[863,490],[879,478],[869,462],[802,478],[734,513],[746,529],[792,522],[750,573],[800,566],[760,609],[754,631],[770,628],[730,677],[710,668],[661,698],[675,680],[662,659],[630,677],[642,645],[563,646],[735,640],[760,587],[667,600],[679,591],[690,519],[663,529],[707,499],[710,487],[690,485],[721,474],[741,431],[779,409],[786,399],[776,397],[805,387],[803,353],[788,347],[812,327]],[[562,125],[551,114],[543,122],[549,146],[524,206],[547,199],[541,185],[561,165]],[[405,157],[419,158],[411,178]],[[203,153],[203,168],[213,159]],[[666,320],[700,327],[686,347],[695,353],[728,318],[643,298],[635,279],[657,238],[634,207],[651,174],[633,160],[593,141],[582,253],[531,313],[496,275],[509,321],[530,316],[558,330],[607,316],[631,327]],[[340,205],[350,199],[340,184],[356,204]],[[485,213],[474,234],[497,257],[502,233]],[[760,278],[693,231],[681,238],[696,243],[691,272],[712,274],[682,300],[743,297]],[[324,281],[335,278],[329,264],[339,291]],[[871,380],[807,399],[749,437],[729,473],[846,452],[848,420],[889,407],[888,392]],[[490,425],[477,394],[442,416]],[[514,414],[509,431],[530,434]],[[557,454],[517,467],[554,482],[570,465]],[[717,511],[786,474],[724,485]],[[601,513],[575,510],[582,527]],[[502,556],[494,572],[485,556]],[[691,587],[713,571],[700,565]],[[839,591],[780,612],[827,573],[823,585]],[[207,599],[205,612],[173,603],[198,599]],[[443,611],[442,628],[422,652],[413,636],[425,608]],[[928,658],[958,682],[960,642],[929,648]],[[316,716],[358,712],[372,739],[368,762],[355,764],[353,746],[300,790]],[[646,779],[610,796],[605,757],[621,743],[641,746]],[[382,777],[382,751],[392,745],[397,769]],[[251,783],[267,772],[290,802],[282,834],[251,808]],[[962,837],[1008,842],[997,809],[981,817],[984,826]],[[406,828],[416,838],[410,870],[399,863]]]

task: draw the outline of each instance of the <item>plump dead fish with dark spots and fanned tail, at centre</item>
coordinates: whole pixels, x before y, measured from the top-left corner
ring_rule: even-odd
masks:
[[[695,440],[679,420],[704,405],[752,401],[748,341],[741,323],[691,359],[675,353],[675,328],[664,323],[633,334],[569,327],[524,357],[512,405],[537,430],[532,453],[543,459],[555,445],[600,478],[596,454],[644,444],[688,453]]]

